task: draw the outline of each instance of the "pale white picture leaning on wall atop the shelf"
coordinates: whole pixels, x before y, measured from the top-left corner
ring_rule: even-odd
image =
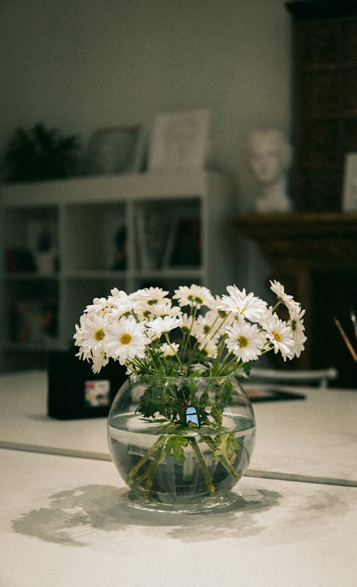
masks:
[[[209,109],[158,114],[151,136],[148,167],[198,169],[206,164]]]

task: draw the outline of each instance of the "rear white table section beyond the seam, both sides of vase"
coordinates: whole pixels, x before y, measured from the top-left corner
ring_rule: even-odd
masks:
[[[357,486],[357,390],[303,391],[305,400],[253,403],[247,474]],[[106,418],[49,418],[46,393],[45,371],[0,376],[0,447],[109,461]]]

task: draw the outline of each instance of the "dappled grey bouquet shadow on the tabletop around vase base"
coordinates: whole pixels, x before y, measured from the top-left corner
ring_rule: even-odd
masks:
[[[14,531],[64,546],[89,546],[94,533],[126,531],[133,526],[162,528],[186,542],[255,536],[264,530],[254,514],[277,506],[281,494],[256,489],[228,509],[209,513],[153,512],[131,506],[127,490],[86,485],[49,496],[49,506],[31,510],[12,521]]]

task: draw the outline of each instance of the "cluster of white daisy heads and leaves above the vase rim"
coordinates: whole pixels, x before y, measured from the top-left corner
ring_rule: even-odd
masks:
[[[180,286],[172,299],[160,288],[112,289],[107,298],[94,298],[76,325],[78,356],[94,373],[114,360],[137,375],[209,377],[242,374],[269,351],[284,361],[300,356],[305,311],[278,281],[271,281],[271,291],[273,307],[236,286],[221,297],[203,286]],[[287,309],[286,320],[279,306]]]

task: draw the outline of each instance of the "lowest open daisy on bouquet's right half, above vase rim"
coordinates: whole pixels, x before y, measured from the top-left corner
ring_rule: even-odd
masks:
[[[235,321],[231,326],[227,326],[226,333],[228,334],[226,339],[228,351],[231,351],[243,363],[255,361],[266,345],[266,336],[256,324]]]

